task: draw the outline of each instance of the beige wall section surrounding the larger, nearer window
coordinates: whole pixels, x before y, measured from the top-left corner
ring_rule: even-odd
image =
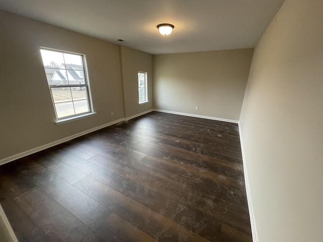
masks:
[[[0,160],[124,117],[118,45],[4,11],[0,36]],[[85,54],[94,116],[55,124],[40,46]]]

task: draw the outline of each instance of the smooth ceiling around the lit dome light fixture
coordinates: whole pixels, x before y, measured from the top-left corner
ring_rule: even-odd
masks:
[[[254,47],[284,0],[1,0],[0,9],[152,54]],[[168,36],[156,26],[175,26]],[[119,42],[118,39],[125,40]]]

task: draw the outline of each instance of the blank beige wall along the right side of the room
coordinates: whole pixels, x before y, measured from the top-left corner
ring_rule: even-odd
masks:
[[[261,242],[323,241],[322,11],[287,0],[254,51],[240,127]]]

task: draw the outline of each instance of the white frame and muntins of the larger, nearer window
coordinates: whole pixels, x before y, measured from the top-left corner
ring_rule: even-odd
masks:
[[[82,66],[83,66],[83,73],[84,73],[84,83],[85,84],[79,83],[77,85],[76,84],[49,85],[48,82],[47,82],[47,79],[46,79],[46,82],[47,82],[47,85],[48,85],[49,91],[50,91],[50,96],[51,96],[53,108],[55,110],[55,115],[56,115],[56,119],[57,119],[56,124],[64,124],[64,123],[67,123],[67,122],[71,122],[73,120],[77,120],[77,119],[80,119],[80,118],[84,118],[84,117],[87,117],[87,116],[94,115],[95,112],[93,112],[91,93],[90,93],[90,85],[89,85],[88,76],[87,76],[86,61],[85,61],[84,54],[68,52],[68,51],[64,51],[64,50],[50,49],[50,48],[45,48],[45,47],[40,47],[40,50],[49,50],[49,51],[54,51],[54,52],[59,52],[59,53],[67,53],[67,54],[79,55],[81,57],[81,59],[82,59]],[[65,64],[65,69],[62,69],[62,70],[66,70],[66,71],[69,70],[69,69],[66,68],[66,63],[64,63],[64,64]],[[45,66],[44,66],[44,70],[45,70]],[[68,88],[71,88],[71,87],[82,88],[83,87],[83,88],[85,88],[85,90],[86,90],[86,100],[87,100],[87,105],[89,107],[89,110],[86,111],[86,112],[82,112],[82,113],[77,113],[77,114],[68,115],[68,116],[64,116],[64,117],[58,117],[56,106],[55,106],[56,102],[54,101],[52,91],[51,91],[52,88],[58,88],[58,87],[60,87],[60,88],[64,88],[64,87],[68,87]],[[75,112],[74,101],[75,100],[73,100],[73,98],[72,98],[71,102],[73,103],[73,108],[74,108],[74,112]]]

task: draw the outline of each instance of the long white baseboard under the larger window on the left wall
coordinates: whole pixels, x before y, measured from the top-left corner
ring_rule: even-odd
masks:
[[[72,140],[72,139],[75,139],[77,137],[80,137],[82,135],[86,135],[86,134],[89,134],[91,132],[94,132],[94,131],[97,131],[97,130],[100,130],[100,129],[103,129],[105,127],[108,127],[108,126],[111,126],[111,125],[115,125],[117,123],[120,123],[120,122],[123,122],[125,120],[125,118],[120,118],[118,120],[115,120],[113,122],[110,122],[110,123],[107,123],[105,125],[101,125],[101,126],[98,126],[98,127],[95,127],[93,129],[90,129],[90,130],[86,130],[86,131],[83,131],[81,133],[78,133],[78,134],[75,134],[75,135],[72,135],[72,136],[69,136],[69,137],[66,137],[66,138],[63,138],[61,140],[57,140],[57,141],[54,141],[54,142],[51,142],[51,143],[48,143],[48,144],[45,144],[45,145],[42,145],[42,146],[39,146],[39,147],[36,147],[36,148],[33,148],[31,150],[27,150],[27,151],[24,151],[24,152],[21,152],[19,154],[16,154],[16,155],[13,155],[13,156],[10,156],[10,157],[7,157],[5,159],[2,159],[0,160],[0,165],[3,165],[3,164],[6,164],[8,162],[11,162],[13,160],[17,160],[19,158],[22,158],[22,157],[25,157],[27,155],[31,155],[33,153],[36,153],[38,151],[41,151],[41,150],[44,150],[44,149],[47,149],[47,148],[50,148],[52,146],[55,146],[55,145],[58,145],[58,144],[61,144],[63,142],[66,142],[66,141],[69,141],[69,140]]]

